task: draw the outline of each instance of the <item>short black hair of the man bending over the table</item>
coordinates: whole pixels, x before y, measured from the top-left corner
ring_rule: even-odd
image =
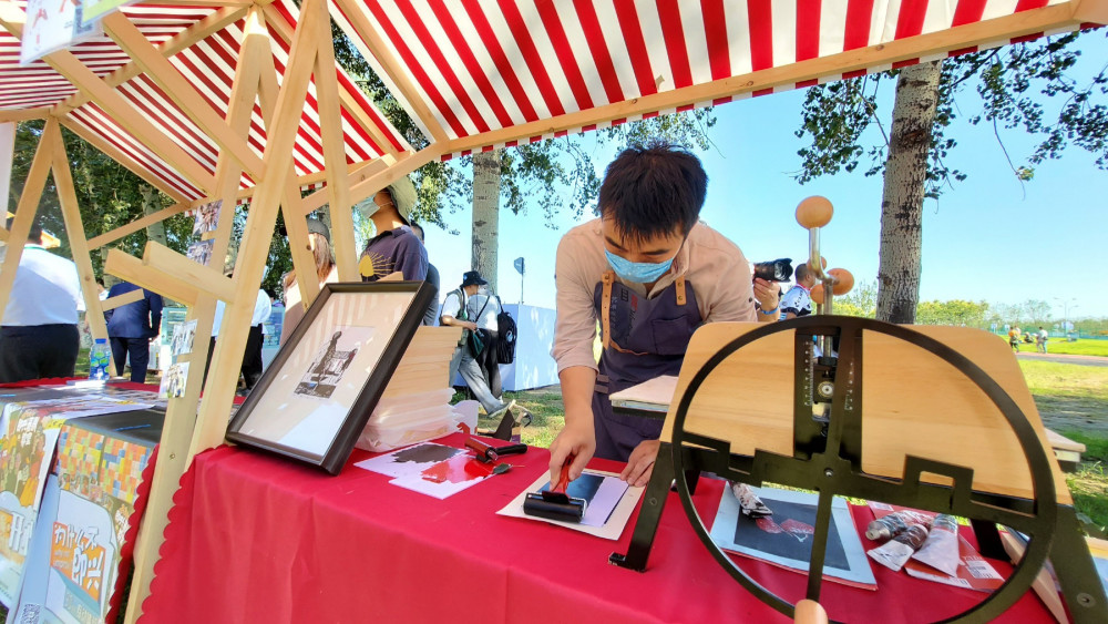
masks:
[[[619,233],[640,243],[687,235],[708,191],[708,174],[688,150],[669,143],[633,145],[616,156],[601,184],[601,216],[615,221]]]

